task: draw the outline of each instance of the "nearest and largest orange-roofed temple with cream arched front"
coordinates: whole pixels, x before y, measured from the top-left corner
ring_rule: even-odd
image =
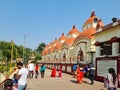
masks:
[[[97,23],[100,19],[93,11],[90,17],[85,21],[82,32],[74,41],[74,59],[80,63],[95,63],[95,37]],[[102,23],[102,21],[101,21]]]

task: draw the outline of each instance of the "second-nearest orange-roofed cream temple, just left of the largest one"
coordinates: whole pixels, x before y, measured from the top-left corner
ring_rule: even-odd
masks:
[[[63,62],[72,62],[73,61],[73,43],[76,37],[80,34],[80,31],[76,29],[75,25],[73,28],[68,32],[67,39],[62,44],[61,47],[61,54],[62,54],[62,61]]]

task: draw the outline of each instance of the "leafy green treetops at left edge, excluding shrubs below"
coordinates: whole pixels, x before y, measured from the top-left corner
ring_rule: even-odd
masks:
[[[29,58],[31,56],[31,49],[25,48],[22,45],[18,46],[15,43],[13,43],[13,60],[16,60],[16,58],[23,58],[23,48],[25,49],[26,53],[25,56]],[[0,41],[0,50],[2,52],[2,58],[3,61],[7,59],[10,61],[11,59],[11,51],[12,51],[12,43],[6,42],[6,41]]]

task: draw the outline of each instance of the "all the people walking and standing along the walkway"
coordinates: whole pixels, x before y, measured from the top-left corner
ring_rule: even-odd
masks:
[[[27,87],[27,79],[28,78],[38,78],[39,73],[41,73],[41,78],[44,78],[44,73],[46,70],[46,67],[44,64],[42,64],[41,67],[36,64],[34,66],[33,63],[29,63],[27,67],[23,66],[23,63],[19,62],[17,63],[18,67],[18,72],[14,74],[13,80],[8,79],[8,83],[5,83],[5,87],[3,90],[26,90]],[[82,66],[80,64],[75,64],[73,65],[73,71],[74,71],[74,77],[76,77],[77,83],[82,84],[83,83],[83,78],[88,77],[90,79],[90,84],[94,84],[94,74],[95,74],[95,68],[93,67],[92,64]],[[35,73],[35,75],[34,75]],[[53,66],[52,71],[51,71],[51,77],[56,77],[56,67]],[[62,68],[59,68],[58,70],[58,77],[62,76]],[[9,83],[9,82],[12,82]],[[117,90],[118,86],[118,80],[117,80],[117,75],[115,73],[114,68],[109,68],[108,69],[108,74],[105,77],[104,81],[104,86],[105,88],[108,88],[108,90]],[[7,89],[8,88],[8,89]]]

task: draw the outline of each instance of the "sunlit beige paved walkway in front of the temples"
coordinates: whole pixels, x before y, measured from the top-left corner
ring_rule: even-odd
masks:
[[[90,85],[89,79],[84,79],[83,84],[77,84],[76,79],[72,75],[63,73],[61,78],[50,77],[51,70],[46,70],[45,78],[28,79],[27,90],[107,90],[103,87],[103,83],[95,81]],[[120,89],[117,89],[120,90]]]

